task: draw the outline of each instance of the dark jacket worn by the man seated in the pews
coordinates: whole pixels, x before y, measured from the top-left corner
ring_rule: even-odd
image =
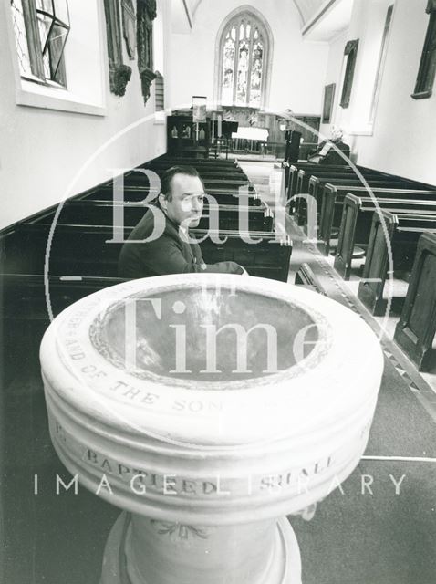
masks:
[[[135,279],[192,272],[243,273],[243,268],[235,262],[204,264],[200,245],[182,241],[179,225],[172,223],[164,214],[163,217],[165,230],[160,237],[145,243],[132,242],[122,246],[119,255],[120,277]],[[147,238],[151,235],[153,226],[154,216],[148,211],[131,232],[129,240]]]

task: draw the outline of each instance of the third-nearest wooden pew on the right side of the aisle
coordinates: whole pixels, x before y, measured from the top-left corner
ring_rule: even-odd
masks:
[[[431,201],[392,200],[379,196],[378,204],[379,208],[386,209],[393,214],[436,216],[436,194]],[[345,280],[348,280],[351,274],[351,260],[356,245],[363,248],[368,245],[372,215],[375,210],[376,203],[370,197],[358,197],[348,193],[344,199],[334,267],[339,276]]]

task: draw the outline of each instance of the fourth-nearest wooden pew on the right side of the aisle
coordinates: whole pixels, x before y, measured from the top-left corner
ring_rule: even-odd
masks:
[[[436,198],[436,190],[371,188],[371,191],[376,198],[385,199],[432,201]],[[342,207],[348,193],[365,197],[368,194],[368,190],[366,187],[353,186],[350,188],[349,185],[335,186],[330,183],[324,186],[317,241],[317,247],[324,255],[330,253],[332,229],[333,227],[340,227]],[[413,204],[410,208],[414,208]]]

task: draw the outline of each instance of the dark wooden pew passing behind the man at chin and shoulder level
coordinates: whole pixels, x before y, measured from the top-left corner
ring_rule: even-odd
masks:
[[[140,222],[147,209],[148,207],[140,203],[119,205],[105,201],[67,201],[58,214],[57,224],[115,225],[114,220],[117,218],[118,221],[120,213],[123,216],[123,224],[133,227]],[[244,214],[245,221],[248,220],[250,231],[272,231],[274,227],[274,214],[269,207],[219,205],[216,210],[211,211],[206,203],[199,228],[209,228],[211,213],[217,215],[219,229],[237,230],[240,225],[243,228],[243,224],[240,223],[240,214]],[[53,221],[54,212],[50,211],[44,215],[44,218],[46,222]]]

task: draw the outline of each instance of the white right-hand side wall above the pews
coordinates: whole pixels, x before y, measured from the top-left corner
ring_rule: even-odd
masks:
[[[371,75],[368,63],[371,59],[374,61],[374,36],[381,36],[374,24],[370,23],[369,15],[365,16],[367,2],[356,0],[348,34],[331,45],[327,67],[327,82],[336,80],[338,84],[345,43],[348,39],[360,38],[350,109],[342,110],[336,103],[334,116],[334,122],[343,125],[349,132],[358,130],[366,122],[367,110],[362,106],[362,83],[369,83]],[[391,3],[379,0],[379,4],[383,6],[377,29],[380,31],[384,25],[387,5]],[[357,135],[348,135],[347,141],[352,145],[357,162],[363,166],[436,184],[436,94],[430,99],[415,100],[410,97],[415,87],[429,24],[426,5],[427,0],[396,1],[372,133],[362,135],[358,131]],[[370,89],[372,92],[372,84]]]

